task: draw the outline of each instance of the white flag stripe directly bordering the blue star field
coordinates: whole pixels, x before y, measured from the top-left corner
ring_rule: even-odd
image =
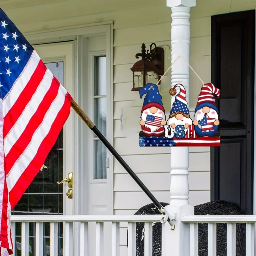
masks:
[[[36,67],[40,61],[40,57],[34,51],[28,60],[26,67],[23,69],[23,72],[20,74],[18,79],[12,85],[12,89],[6,94],[3,99],[3,113],[4,117],[8,111],[12,108],[16,100],[19,98],[20,93],[28,84],[31,76],[34,74]]]

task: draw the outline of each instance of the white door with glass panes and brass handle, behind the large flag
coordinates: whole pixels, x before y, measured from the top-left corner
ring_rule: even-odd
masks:
[[[58,78],[60,83],[73,96],[74,92],[74,42],[42,44],[33,46],[46,66]],[[74,111],[64,125],[58,139],[45,160],[42,172],[39,172],[31,185],[25,191],[18,204],[12,211],[12,215],[36,214],[36,215],[72,215],[76,214],[76,166],[75,159],[75,132],[74,132]],[[73,198],[66,196],[68,183],[58,185],[57,181],[68,178],[72,172],[74,184],[72,188]],[[43,255],[50,253],[50,223],[44,223],[43,228],[44,244]],[[35,223],[29,223],[29,251],[35,255]],[[21,250],[21,229],[20,223],[16,224],[15,240],[17,255]],[[65,232],[62,223],[58,224],[58,255],[64,255]],[[63,247],[64,246],[64,247]],[[76,254],[75,254],[76,255]],[[70,256],[70,255],[65,255]]]

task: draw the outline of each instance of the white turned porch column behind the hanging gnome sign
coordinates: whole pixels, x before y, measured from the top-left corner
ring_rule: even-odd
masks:
[[[171,45],[172,63],[182,55],[189,63],[190,44],[190,7],[196,6],[196,0],[167,0],[172,10]],[[172,86],[183,84],[187,92],[189,108],[189,67],[179,58],[172,66]],[[175,96],[172,97],[172,103]],[[189,225],[183,224],[180,217],[194,215],[194,207],[188,205],[188,147],[171,147],[171,185],[168,212],[176,212],[174,230],[165,226],[165,254],[170,256],[190,255]],[[169,225],[169,227],[168,227]]]

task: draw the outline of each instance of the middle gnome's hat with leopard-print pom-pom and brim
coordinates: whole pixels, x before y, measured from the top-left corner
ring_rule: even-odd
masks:
[[[172,109],[170,111],[169,117],[172,118],[173,116],[176,116],[177,114],[182,114],[183,116],[190,118],[189,111],[188,111],[188,102],[186,100],[186,90],[182,84],[176,84],[173,88],[169,91],[169,93],[174,96],[177,91],[176,87],[180,88],[180,92],[175,97],[175,101],[172,104]]]

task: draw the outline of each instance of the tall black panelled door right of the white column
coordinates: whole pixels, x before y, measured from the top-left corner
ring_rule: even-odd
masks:
[[[211,200],[253,214],[255,10],[212,16],[211,81],[220,88],[220,147],[211,148]]]

